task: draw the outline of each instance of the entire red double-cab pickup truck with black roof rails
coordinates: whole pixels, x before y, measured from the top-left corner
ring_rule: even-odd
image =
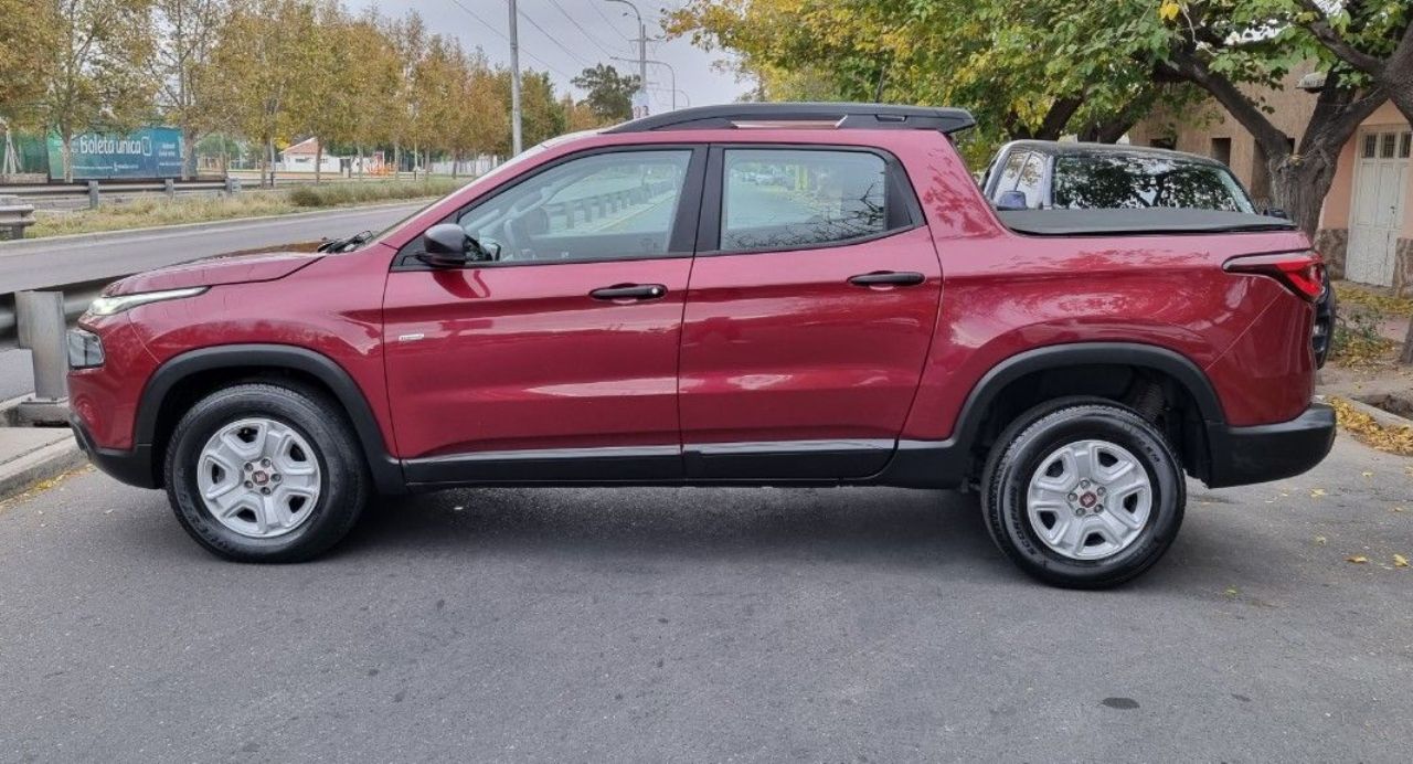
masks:
[[[731,105],[571,136],[377,236],[109,287],[73,428],[212,552],[300,561],[374,493],[976,487],[1027,573],[1153,565],[1299,474],[1323,265],[1287,220],[1017,210],[957,109]]]

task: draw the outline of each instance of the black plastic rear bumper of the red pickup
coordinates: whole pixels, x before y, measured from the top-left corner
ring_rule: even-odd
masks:
[[[1334,410],[1311,404],[1289,422],[1256,426],[1208,425],[1214,489],[1293,477],[1318,465],[1334,445]]]

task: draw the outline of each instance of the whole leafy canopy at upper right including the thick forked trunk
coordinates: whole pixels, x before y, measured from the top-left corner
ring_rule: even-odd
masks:
[[[1256,137],[1275,203],[1313,233],[1342,145],[1413,88],[1409,14],[1407,0],[694,0],[668,31],[736,52],[770,99],[969,107],[983,144],[1116,138],[1159,97],[1181,112],[1205,93]],[[1293,147],[1249,93],[1310,61],[1325,85]]]

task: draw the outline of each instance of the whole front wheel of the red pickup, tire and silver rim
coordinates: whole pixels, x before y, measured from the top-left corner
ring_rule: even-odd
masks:
[[[342,539],[367,504],[357,443],[343,411],[312,390],[227,387],[192,405],[172,431],[167,497],[182,528],[218,556],[302,562]]]

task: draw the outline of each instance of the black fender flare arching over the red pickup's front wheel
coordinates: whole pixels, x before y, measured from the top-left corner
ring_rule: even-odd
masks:
[[[319,380],[348,412],[377,490],[387,494],[406,493],[407,483],[401,463],[389,452],[383,431],[363,390],[333,359],[292,345],[219,345],[188,350],[168,359],[143,387],[133,442],[138,448],[150,449],[155,441],[157,417],[162,401],[172,388],[194,374],[219,369],[285,369]]]

